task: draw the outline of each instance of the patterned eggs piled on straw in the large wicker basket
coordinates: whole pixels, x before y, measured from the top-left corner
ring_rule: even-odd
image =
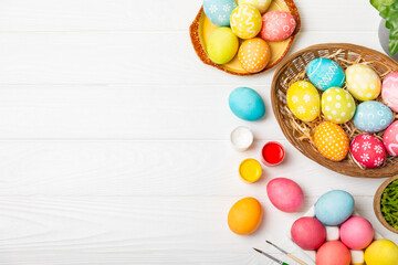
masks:
[[[303,121],[313,121],[322,113],[326,120],[316,126],[313,142],[324,157],[341,161],[350,151],[362,168],[378,168],[387,155],[398,156],[398,121],[394,123],[392,113],[398,110],[398,72],[381,83],[366,64],[344,71],[335,61],[320,57],[307,64],[306,75],[310,82],[297,81],[289,87],[287,107]],[[376,100],[380,94],[383,103]],[[339,125],[350,120],[362,134],[349,142]],[[384,132],[383,141],[375,136],[379,132]]]

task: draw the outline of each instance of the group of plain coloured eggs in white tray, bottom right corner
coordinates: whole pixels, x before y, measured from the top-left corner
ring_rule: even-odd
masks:
[[[317,265],[365,262],[367,265],[397,265],[398,246],[377,239],[369,221],[353,215],[354,204],[354,198],[342,190],[323,194],[307,216],[293,223],[293,242],[305,251],[315,251]]]

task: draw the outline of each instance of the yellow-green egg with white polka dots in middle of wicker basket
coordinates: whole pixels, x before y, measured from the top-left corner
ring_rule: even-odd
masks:
[[[345,124],[354,117],[355,100],[353,96],[338,87],[331,87],[322,94],[322,113],[335,124]]]

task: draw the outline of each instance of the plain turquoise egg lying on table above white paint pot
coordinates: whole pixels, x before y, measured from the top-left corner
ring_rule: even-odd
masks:
[[[258,120],[265,114],[265,105],[261,96],[249,87],[238,87],[232,91],[229,106],[234,115],[245,120]]]

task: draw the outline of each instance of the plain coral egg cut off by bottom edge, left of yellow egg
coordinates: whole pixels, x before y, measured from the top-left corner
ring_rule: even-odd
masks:
[[[316,265],[349,265],[350,253],[339,241],[328,241],[316,252]]]

